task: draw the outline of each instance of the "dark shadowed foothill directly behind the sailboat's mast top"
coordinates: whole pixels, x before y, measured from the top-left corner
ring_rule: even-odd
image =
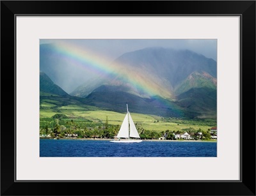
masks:
[[[164,117],[183,117],[182,109],[170,100],[159,96],[141,98],[121,91],[118,86],[100,86],[86,97],[90,105],[108,108],[115,112],[124,112],[126,103],[131,112],[152,114]]]

